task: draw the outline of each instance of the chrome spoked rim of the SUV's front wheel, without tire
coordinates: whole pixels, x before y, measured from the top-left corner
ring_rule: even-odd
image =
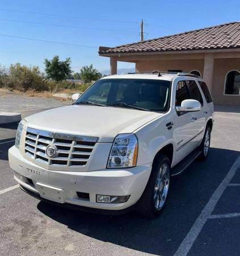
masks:
[[[170,173],[169,166],[163,163],[159,168],[157,179],[154,186],[154,206],[155,209],[160,210],[167,199],[167,193],[169,192]]]

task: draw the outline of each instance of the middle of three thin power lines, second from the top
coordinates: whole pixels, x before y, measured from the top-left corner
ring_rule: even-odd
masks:
[[[64,25],[64,24],[53,24],[53,23],[43,23],[43,22],[30,22],[27,20],[18,20],[18,19],[1,19],[7,22],[22,22],[22,23],[29,23],[29,24],[40,24],[44,26],[57,26],[57,27],[72,27],[72,28],[83,28],[89,30],[106,30],[106,31],[121,31],[121,32],[129,32],[129,33],[138,33],[137,31],[126,31],[126,30],[115,30],[110,28],[97,28],[97,27],[79,27],[79,26],[72,26],[72,25]]]

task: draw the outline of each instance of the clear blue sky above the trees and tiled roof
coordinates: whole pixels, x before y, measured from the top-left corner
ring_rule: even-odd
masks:
[[[74,72],[89,64],[105,71],[110,60],[98,56],[98,47],[139,41],[141,19],[144,39],[151,39],[240,20],[239,10],[239,0],[1,0],[0,65],[18,62],[44,71],[44,59],[59,55],[71,58]]]

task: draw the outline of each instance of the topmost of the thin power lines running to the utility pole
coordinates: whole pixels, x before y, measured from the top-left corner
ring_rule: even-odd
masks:
[[[0,10],[1,11],[13,11],[15,13],[27,13],[27,14],[54,16],[54,17],[62,17],[62,18],[87,19],[87,20],[107,21],[107,22],[137,23],[138,24],[138,22],[133,22],[133,21],[128,21],[128,20],[96,19],[96,18],[87,18],[87,17],[80,17],[80,16],[62,15],[62,14],[36,13],[36,12],[33,12],[33,11],[19,11],[19,10],[12,10],[12,9],[0,9]]]

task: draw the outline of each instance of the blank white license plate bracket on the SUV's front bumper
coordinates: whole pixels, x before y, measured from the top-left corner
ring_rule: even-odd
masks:
[[[63,204],[64,200],[64,190],[61,188],[52,187],[43,183],[36,183],[37,191],[39,191],[40,196],[44,199],[48,199],[57,203]]]

